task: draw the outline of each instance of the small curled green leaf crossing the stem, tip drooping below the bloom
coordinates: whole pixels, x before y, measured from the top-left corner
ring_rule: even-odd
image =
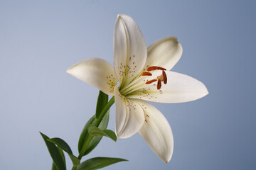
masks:
[[[110,137],[110,139],[117,141],[117,136],[114,134],[112,130],[101,130],[100,128],[97,128],[94,125],[90,125],[88,127],[88,132],[91,136],[105,136],[105,137]]]

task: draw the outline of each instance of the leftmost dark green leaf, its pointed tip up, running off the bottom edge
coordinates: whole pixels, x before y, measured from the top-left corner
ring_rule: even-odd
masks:
[[[56,147],[52,142],[49,142],[48,139],[49,137],[41,133],[41,136],[43,137],[43,140],[46,142],[46,146],[48,148],[48,151],[50,153],[50,157],[52,157],[53,162],[57,166],[58,170],[65,170],[65,161],[60,154],[60,151],[58,150],[58,147]]]

